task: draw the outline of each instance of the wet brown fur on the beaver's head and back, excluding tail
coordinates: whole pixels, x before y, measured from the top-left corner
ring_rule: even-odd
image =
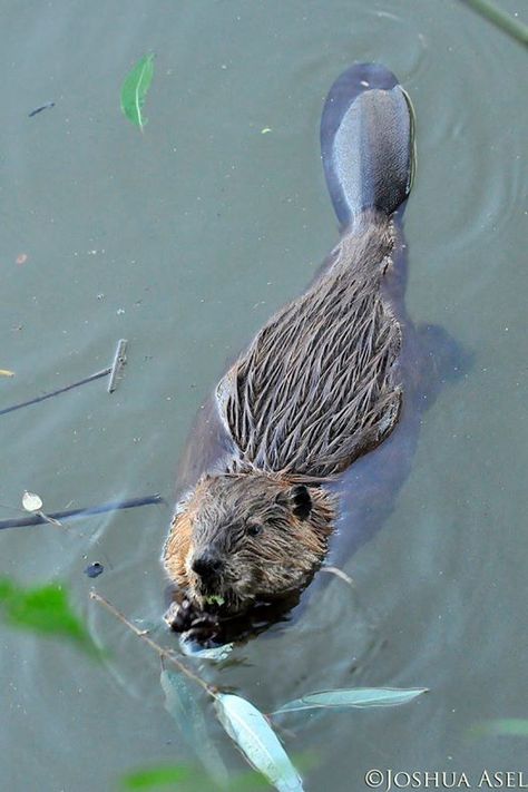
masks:
[[[164,550],[169,577],[198,607],[201,553],[222,558],[214,593],[231,612],[306,585],[323,560],[335,518],[324,480],[378,446],[400,411],[401,330],[382,290],[393,244],[385,215],[361,217],[221,381],[232,456],[184,498]]]

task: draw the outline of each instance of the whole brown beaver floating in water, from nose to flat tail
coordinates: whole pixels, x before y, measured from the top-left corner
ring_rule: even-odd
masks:
[[[402,411],[407,323],[393,253],[414,141],[397,78],[371,63],[341,75],[321,145],[341,238],[216,388],[205,419],[214,451],[194,466],[163,551],[176,587],[166,620],[178,632],[214,633],[302,591],[340,511],[329,483],[388,439]]]

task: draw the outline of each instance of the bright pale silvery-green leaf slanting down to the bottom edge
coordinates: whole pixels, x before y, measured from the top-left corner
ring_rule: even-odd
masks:
[[[278,792],[303,792],[302,780],[277,735],[253,704],[241,696],[219,693],[215,706],[225,731],[255,770]]]

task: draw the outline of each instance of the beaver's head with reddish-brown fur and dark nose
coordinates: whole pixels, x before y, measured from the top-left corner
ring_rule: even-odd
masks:
[[[332,519],[319,486],[261,472],[204,476],[177,508],[165,568],[201,608],[239,613],[310,581]]]

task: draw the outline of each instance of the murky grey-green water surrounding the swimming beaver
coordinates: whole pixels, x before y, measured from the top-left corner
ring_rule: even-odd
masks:
[[[129,340],[113,397],[98,381],[0,418],[2,518],[25,489],[50,511],[172,500],[226,359],[336,239],[319,158],[326,90],[354,60],[399,76],[418,118],[410,313],[443,325],[475,364],[427,413],[390,520],[343,559],[358,598],[334,579],[296,625],[204,673],[267,712],[324,687],[431,688],[402,708],[285,724],[289,751],[317,757],[310,790],[366,789],[370,767],[473,780],[526,767],[526,742],[467,736],[482,718],[528,716],[526,51],[461,3],[433,0],[25,1],[3,3],[0,19],[0,368],[16,371],[0,380],[1,405],[106,366]],[[150,50],[141,135],[120,115],[119,88]],[[114,653],[97,667],[1,627],[2,789],[110,790],[137,766],[193,761],[156,656],[88,600],[95,583],[170,642],[159,624],[169,515],[1,532],[0,573],[66,581]],[[105,574],[91,581],[82,570],[96,560]]]

